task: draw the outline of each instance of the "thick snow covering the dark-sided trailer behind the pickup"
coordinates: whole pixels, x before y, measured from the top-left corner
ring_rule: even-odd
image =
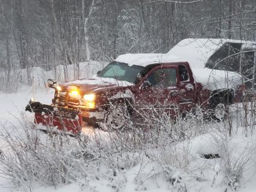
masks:
[[[187,60],[192,68],[204,68],[208,58],[224,43],[242,43],[243,48],[255,47],[256,42],[232,39],[184,39],[167,54]]]

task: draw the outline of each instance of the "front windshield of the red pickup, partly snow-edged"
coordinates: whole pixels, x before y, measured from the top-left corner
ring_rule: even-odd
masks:
[[[136,82],[137,75],[143,69],[142,66],[128,66],[126,63],[116,61],[108,64],[99,72],[98,76],[102,78],[113,78],[119,81]]]

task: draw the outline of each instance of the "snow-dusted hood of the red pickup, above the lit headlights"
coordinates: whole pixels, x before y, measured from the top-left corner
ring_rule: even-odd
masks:
[[[92,76],[91,78],[68,81],[60,84],[63,90],[67,90],[69,85],[74,85],[79,87],[80,92],[82,94],[86,94],[90,92],[98,93],[102,90],[105,91],[105,90],[110,90],[117,87],[129,87],[129,86],[133,86],[134,84],[127,81],[118,81],[113,78],[101,78],[95,75],[95,76]]]

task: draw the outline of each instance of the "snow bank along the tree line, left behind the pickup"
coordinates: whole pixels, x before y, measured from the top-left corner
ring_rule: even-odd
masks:
[[[99,61],[86,61],[79,64],[80,66],[80,79],[89,78],[90,76],[96,74],[99,70],[103,69],[107,63]],[[67,65],[67,81],[72,81],[75,78],[73,65]],[[59,65],[56,69],[56,76],[54,70],[46,71],[41,67],[32,67],[31,69],[20,69],[16,67],[11,70],[10,82],[7,83],[7,73],[5,71],[0,71],[0,91],[16,92],[21,91],[26,85],[30,85],[34,82],[35,87],[46,87],[47,80],[49,78],[56,79],[58,82],[63,82],[64,79],[64,66]],[[27,75],[29,74],[29,75]],[[31,79],[28,81],[28,77]],[[30,85],[31,86],[31,85]]]

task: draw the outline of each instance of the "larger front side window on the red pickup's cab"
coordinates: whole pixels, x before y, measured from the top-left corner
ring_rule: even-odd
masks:
[[[148,81],[152,87],[176,87],[176,70],[172,68],[154,70]]]

